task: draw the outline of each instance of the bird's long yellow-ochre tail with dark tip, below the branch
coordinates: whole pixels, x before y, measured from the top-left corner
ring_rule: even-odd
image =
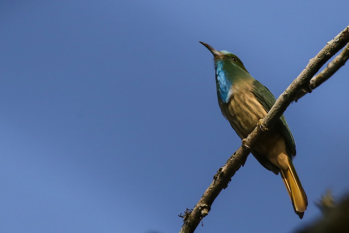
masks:
[[[282,181],[285,184],[288,194],[290,195],[293,209],[300,219],[303,218],[304,211],[308,205],[308,200],[302,184],[299,181],[295,167],[293,166],[291,158],[288,157],[288,169],[280,169]]]

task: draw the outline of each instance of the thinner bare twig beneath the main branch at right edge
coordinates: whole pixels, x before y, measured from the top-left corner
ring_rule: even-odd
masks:
[[[327,67],[322,70],[319,74],[315,75],[310,80],[310,89],[314,90],[318,86],[320,86],[323,82],[325,82],[327,79],[331,78],[331,76],[339,70],[344,64],[346,64],[346,61],[349,59],[349,43],[345,48],[342,50],[342,52],[337,55],[330,63],[328,63]],[[303,97],[306,93],[308,93],[309,90],[302,89],[296,96],[295,101],[297,102],[301,97]]]

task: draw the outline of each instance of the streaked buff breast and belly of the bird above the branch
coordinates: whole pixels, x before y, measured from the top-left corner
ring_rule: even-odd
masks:
[[[245,91],[234,93],[231,96],[223,115],[239,137],[243,139],[257,126],[258,120],[267,115],[267,111],[251,92]]]

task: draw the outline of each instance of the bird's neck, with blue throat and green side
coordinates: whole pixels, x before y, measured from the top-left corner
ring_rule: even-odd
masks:
[[[215,61],[215,68],[217,95],[224,103],[229,102],[230,97],[233,94],[233,89],[236,89],[233,88],[233,86],[244,85],[246,81],[253,79],[249,73],[239,66],[234,66],[230,61]]]

